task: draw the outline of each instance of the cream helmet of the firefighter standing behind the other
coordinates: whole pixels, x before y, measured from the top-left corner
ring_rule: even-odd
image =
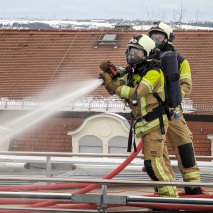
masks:
[[[154,22],[153,26],[148,31],[149,37],[151,37],[152,33],[156,32],[162,32],[168,39],[168,43],[172,44],[172,41],[174,40],[175,36],[173,34],[172,28],[169,25],[163,22]]]

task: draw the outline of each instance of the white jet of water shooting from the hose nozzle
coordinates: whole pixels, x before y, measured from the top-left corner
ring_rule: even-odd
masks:
[[[29,112],[6,123],[3,128],[10,129],[11,131],[8,131],[8,134],[3,135],[0,139],[0,142],[8,140],[15,134],[21,133],[28,127],[42,121],[54,113],[57,113],[64,105],[91,93],[102,84],[103,79],[92,79],[72,84],[72,90],[75,88],[75,91],[68,91],[60,98],[56,98],[32,112]]]

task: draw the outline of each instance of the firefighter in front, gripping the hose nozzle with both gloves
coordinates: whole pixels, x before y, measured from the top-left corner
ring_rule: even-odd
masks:
[[[110,61],[103,61],[100,76],[107,91],[111,95],[117,94],[132,110],[133,129],[144,143],[144,165],[149,177],[153,181],[174,181],[163,158],[168,118],[155,97],[156,94],[162,99],[165,97],[164,75],[160,64],[152,60],[155,42],[141,34],[135,35],[127,46],[126,74],[112,79],[108,73],[110,67],[116,67]],[[159,196],[178,197],[175,186],[158,186],[157,193]]]

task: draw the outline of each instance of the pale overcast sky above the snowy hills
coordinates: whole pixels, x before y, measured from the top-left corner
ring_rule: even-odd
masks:
[[[0,18],[213,21],[213,0],[0,0]],[[182,8],[182,9],[181,9]]]

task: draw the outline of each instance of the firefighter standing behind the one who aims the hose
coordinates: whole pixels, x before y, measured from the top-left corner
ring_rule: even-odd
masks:
[[[156,43],[156,47],[161,52],[176,51],[172,45],[175,36],[170,26],[163,22],[154,22],[149,29],[148,35]],[[180,73],[180,84],[182,97],[189,95],[192,89],[191,71],[189,62],[178,54],[178,68]],[[183,117],[181,105],[173,109],[174,115],[169,121],[167,136],[174,149],[178,160],[178,167],[185,182],[200,182],[200,170],[198,168],[193,147],[193,135]],[[170,164],[169,158],[164,158],[167,166]],[[185,187],[187,195],[203,194],[200,187]]]

